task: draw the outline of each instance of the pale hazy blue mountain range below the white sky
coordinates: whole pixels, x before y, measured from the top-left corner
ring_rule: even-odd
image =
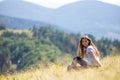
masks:
[[[0,2],[0,14],[55,24],[67,32],[120,37],[120,7],[100,1],[78,1],[49,9],[20,0],[7,0]]]

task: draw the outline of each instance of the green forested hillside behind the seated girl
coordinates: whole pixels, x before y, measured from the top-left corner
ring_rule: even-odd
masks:
[[[90,35],[103,56],[117,54],[119,40],[101,38],[96,40]],[[64,65],[76,55],[81,34],[71,34],[52,27],[32,28],[29,30],[0,29],[0,74],[6,71],[49,66],[50,63]]]

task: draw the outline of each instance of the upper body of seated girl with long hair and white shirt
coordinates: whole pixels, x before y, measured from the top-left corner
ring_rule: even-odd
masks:
[[[77,56],[84,59],[89,66],[102,66],[99,60],[100,52],[88,36],[81,37],[78,45]]]

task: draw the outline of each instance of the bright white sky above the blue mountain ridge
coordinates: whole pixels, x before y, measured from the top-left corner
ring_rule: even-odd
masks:
[[[2,1],[2,0],[0,0],[0,1]],[[58,8],[65,4],[73,3],[76,1],[82,1],[82,0],[24,0],[24,1],[32,2],[35,4],[40,4],[40,5],[42,5],[44,7],[48,7],[48,8]],[[120,0],[99,0],[99,1],[107,2],[107,3],[111,3],[111,4],[120,6]]]

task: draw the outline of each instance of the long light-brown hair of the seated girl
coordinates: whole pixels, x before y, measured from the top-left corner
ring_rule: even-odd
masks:
[[[99,50],[97,49],[97,47],[93,44],[92,40],[88,37],[88,36],[82,36],[81,39],[80,39],[80,42],[79,42],[79,45],[78,45],[78,49],[77,49],[77,56],[80,56],[82,58],[85,57],[85,53],[86,53],[86,50],[85,50],[85,47],[82,45],[82,39],[87,39],[89,41],[89,44],[88,45],[91,45],[95,51],[96,51],[96,55],[98,57],[101,56]]]

